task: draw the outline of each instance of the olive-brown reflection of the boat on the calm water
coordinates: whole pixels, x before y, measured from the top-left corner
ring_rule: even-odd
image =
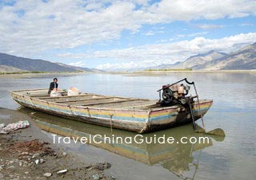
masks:
[[[86,137],[90,138],[94,135],[102,135],[97,137],[98,141],[106,137],[133,137],[138,135],[137,133],[130,131],[122,131],[118,129],[110,129],[110,127],[101,127],[93,124],[82,123],[70,119],[60,118],[54,115],[48,115],[42,112],[35,112],[27,108],[19,108],[18,111],[24,112],[28,115],[32,115],[35,123],[44,131],[48,131],[57,135],[67,137]],[[182,137],[190,139],[190,137],[201,137],[203,134],[198,134],[193,131],[191,124],[174,127],[164,131],[156,131],[148,134],[143,134],[143,139],[153,139],[165,135],[166,138],[173,137],[175,140],[180,140]],[[218,139],[223,140],[223,139]],[[169,170],[173,174],[177,175],[178,178],[183,179],[194,179],[194,176],[198,170],[198,163],[202,149],[213,146],[212,139],[209,139],[207,143],[127,143],[118,141],[111,141],[108,143],[94,143],[91,142],[95,147],[100,147],[107,151],[116,153],[118,155],[125,156],[126,158],[132,158],[139,162],[143,162],[147,165],[160,164],[166,170]],[[197,155],[194,155],[194,152]],[[193,171],[191,173],[191,171]],[[184,173],[190,172],[192,177],[184,177]]]

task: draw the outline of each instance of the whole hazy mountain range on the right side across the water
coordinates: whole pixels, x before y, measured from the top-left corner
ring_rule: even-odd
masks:
[[[242,70],[256,69],[256,42],[230,54],[210,51],[189,57],[186,61],[173,65],[158,65],[151,69],[186,69],[193,70]],[[148,69],[148,68],[147,68]]]

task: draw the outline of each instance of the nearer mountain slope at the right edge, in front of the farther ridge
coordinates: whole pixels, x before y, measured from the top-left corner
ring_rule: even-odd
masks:
[[[256,42],[225,57],[201,65],[199,68],[204,70],[256,69]]]

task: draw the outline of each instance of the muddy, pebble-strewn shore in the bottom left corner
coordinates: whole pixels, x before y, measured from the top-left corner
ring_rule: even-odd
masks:
[[[0,134],[0,179],[115,179],[110,175],[109,162],[90,163],[66,153],[52,143],[30,115],[0,108],[0,123],[19,120],[28,120],[30,127]]]

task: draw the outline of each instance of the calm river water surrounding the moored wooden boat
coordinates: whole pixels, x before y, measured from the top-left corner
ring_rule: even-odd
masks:
[[[66,150],[76,152],[87,161],[100,159],[111,162],[114,175],[119,179],[256,179],[255,73],[171,73],[158,76],[86,74],[59,76],[58,84],[59,88],[77,87],[82,92],[158,99],[156,91],[162,84],[173,83],[184,77],[196,82],[200,99],[214,100],[214,105],[204,117],[206,129],[222,128],[226,132],[225,139],[213,138],[207,146],[117,144],[112,149],[103,147],[109,150],[106,151],[90,145],[73,144],[65,147]],[[52,78],[0,78],[0,107],[18,108],[8,95],[9,90],[48,88]],[[19,111],[30,113],[26,109]],[[36,113],[35,117],[38,124],[52,124],[52,128],[68,129],[71,134],[136,135],[43,113]],[[191,124],[156,134],[174,137],[197,135],[192,131]]]

